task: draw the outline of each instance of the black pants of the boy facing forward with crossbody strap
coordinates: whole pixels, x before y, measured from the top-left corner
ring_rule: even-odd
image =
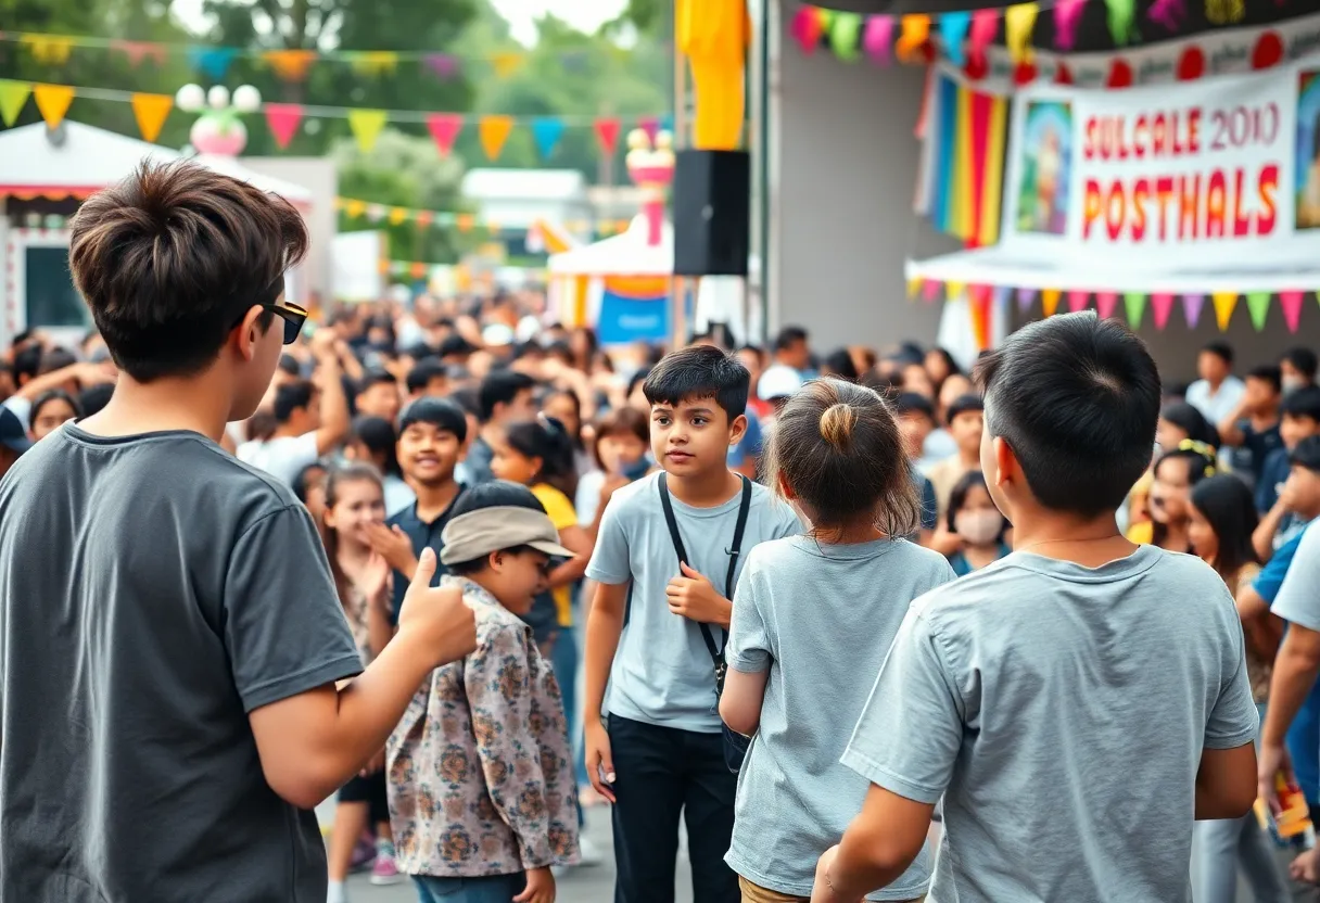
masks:
[[[734,832],[738,776],[723,738],[610,716],[614,755],[615,903],[673,903],[678,813],[688,824],[693,903],[738,903],[725,865]]]

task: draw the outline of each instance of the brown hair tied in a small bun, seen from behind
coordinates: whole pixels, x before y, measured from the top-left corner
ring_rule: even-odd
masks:
[[[807,383],[775,418],[767,461],[767,483],[780,492],[787,483],[818,531],[863,516],[888,536],[920,527],[903,433],[869,388],[841,379]]]

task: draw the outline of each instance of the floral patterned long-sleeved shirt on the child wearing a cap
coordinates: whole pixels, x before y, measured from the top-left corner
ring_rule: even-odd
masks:
[[[577,786],[564,702],[532,628],[461,577],[477,651],[437,668],[389,738],[389,820],[409,875],[573,865]]]

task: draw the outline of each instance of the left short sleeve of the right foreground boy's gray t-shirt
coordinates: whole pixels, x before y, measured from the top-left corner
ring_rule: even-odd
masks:
[[[935,804],[962,743],[962,701],[916,607],[899,627],[841,762],[878,787]]]

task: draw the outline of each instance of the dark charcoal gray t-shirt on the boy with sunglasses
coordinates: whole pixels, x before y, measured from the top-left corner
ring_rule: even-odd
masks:
[[[197,433],[61,428],[0,482],[0,899],[322,903],[248,713],[360,669],[286,486]]]

